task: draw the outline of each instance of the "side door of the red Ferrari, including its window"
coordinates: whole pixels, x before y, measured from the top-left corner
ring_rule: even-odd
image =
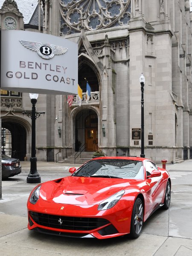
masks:
[[[148,214],[150,215],[151,212],[157,207],[158,204],[161,203],[164,191],[164,183],[163,183],[163,175],[158,177],[149,177],[148,175],[151,174],[153,170],[158,171],[158,167],[156,164],[149,160],[145,160],[144,163],[144,175],[145,175],[145,186],[143,187],[148,200]]]

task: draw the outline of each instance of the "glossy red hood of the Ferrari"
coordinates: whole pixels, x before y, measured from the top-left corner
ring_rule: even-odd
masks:
[[[131,185],[137,180],[99,177],[64,177],[41,185],[41,200],[58,204],[93,205]]]

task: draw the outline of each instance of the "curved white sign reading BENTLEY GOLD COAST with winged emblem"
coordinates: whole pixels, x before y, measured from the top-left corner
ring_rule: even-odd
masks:
[[[3,90],[77,94],[78,45],[39,32],[1,31]]]

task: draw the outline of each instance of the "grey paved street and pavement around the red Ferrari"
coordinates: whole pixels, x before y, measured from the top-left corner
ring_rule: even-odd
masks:
[[[0,255],[3,256],[192,256],[192,160],[166,165],[172,178],[169,210],[159,209],[144,223],[138,239],[76,239],[27,229],[26,202],[36,184],[27,184],[30,162],[20,175],[2,181]],[[162,167],[162,165],[159,165]],[[69,175],[69,166],[37,162],[41,182]]]

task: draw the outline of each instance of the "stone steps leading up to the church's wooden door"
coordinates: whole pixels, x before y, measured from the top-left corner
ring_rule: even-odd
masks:
[[[76,158],[76,160],[75,160],[75,154],[76,154],[76,152],[74,154],[62,159],[61,161],[58,161],[58,163],[64,163],[71,167],[81,166],[83,163],[92,159],[93,151],[86,151],[86,152],[83,151],[83,152],[81,152],[81,155],[78,153],[79,156]]]

